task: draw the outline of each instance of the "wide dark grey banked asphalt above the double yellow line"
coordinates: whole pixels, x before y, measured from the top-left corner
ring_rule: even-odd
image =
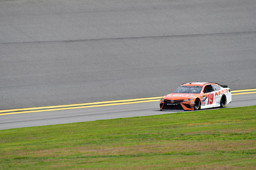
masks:
[[[256,86],[255,0],[0,0],[0,109]]]

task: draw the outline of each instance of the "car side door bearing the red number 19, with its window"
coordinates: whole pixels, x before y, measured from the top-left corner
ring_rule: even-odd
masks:
[[[213,107],[214,104],[214,89],[209,84],[204,86],[203,95],[201,96],[201,109]]]

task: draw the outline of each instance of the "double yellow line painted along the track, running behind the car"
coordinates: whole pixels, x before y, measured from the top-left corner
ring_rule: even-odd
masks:
[[[256,93],[256,92],[246,92],[246,91],[256,91],[256,89],[232,90],[231,92],[233,93],[232,95],[243,95],[243,94]],[[241,93],[234,93],[234,92],[241,92]],[[11,114],[18,114],[18,113],[44,112],[44,111],[55,111],[55,110],[67,110],[67,109],[81,109],[81,108],[88,108],[88,107],[114,106],[114,105],[121,105],[121,104],[135,104],[135,103],[159,101],[160,98],[162,98],[162,96],[151,97],[151,98],[134,98],[134,99],[116,100],[116,101],[99,101],[99,102],[81,103],[81,104],[66,104],[66,105],[58,105],[58,106],[7,109],[7,110],[0,110],[0,115],[11,115]],[[90,106],[86,106],[86,105],[90,105]],[[65,107],[65,108],[57,108],[57,107]],[[41,109],[41,110],[38,110],[38,109]],[[18,112],[15,112],[15,111],[18,111]],[[1,114],[1,112],[9,112],[9,113]]]

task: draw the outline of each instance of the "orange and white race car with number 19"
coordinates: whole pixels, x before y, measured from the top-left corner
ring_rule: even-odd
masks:
[[[160,100],[160,110],[198,110],[225,107],[232,101],[230,89],[216,83],[185,83]]]

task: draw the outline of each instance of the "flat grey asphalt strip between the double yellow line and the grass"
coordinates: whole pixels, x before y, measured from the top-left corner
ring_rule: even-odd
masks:
[[[250,94],[232,95],[232,102],[227,108],[256,105],[256,90]],[[237,93],[238,94],[238,93]],[[65,124],[82,121],[96,121],[112,118],[128,118],[136,116],[160,115],[175,112],[193,111],[160,111],[159,99],[142,103],[129,103],[110,106],[87,107],[43,112],[21,112],[9,115],[0,113],[0,130],[20,127]],[[205,110],[205,109],[204,109]]]

